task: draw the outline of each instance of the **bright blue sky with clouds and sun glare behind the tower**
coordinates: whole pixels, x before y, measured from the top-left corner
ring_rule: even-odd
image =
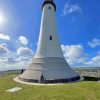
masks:
[[[0,0],[0,68],[27,66],[40,31],[43,0]],[[68,63],[100,66],[100,0],[54,0],[59,39]]]

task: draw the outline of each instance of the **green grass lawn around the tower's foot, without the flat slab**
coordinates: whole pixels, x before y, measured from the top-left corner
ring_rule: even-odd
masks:
[[[100,83],[96,81],[57,86],[29,86],[14,82],[14,77],[14,74],[0,77],[0,100],[100,100]],[[16,93],[6,92],[13,87],[23,89]]]

